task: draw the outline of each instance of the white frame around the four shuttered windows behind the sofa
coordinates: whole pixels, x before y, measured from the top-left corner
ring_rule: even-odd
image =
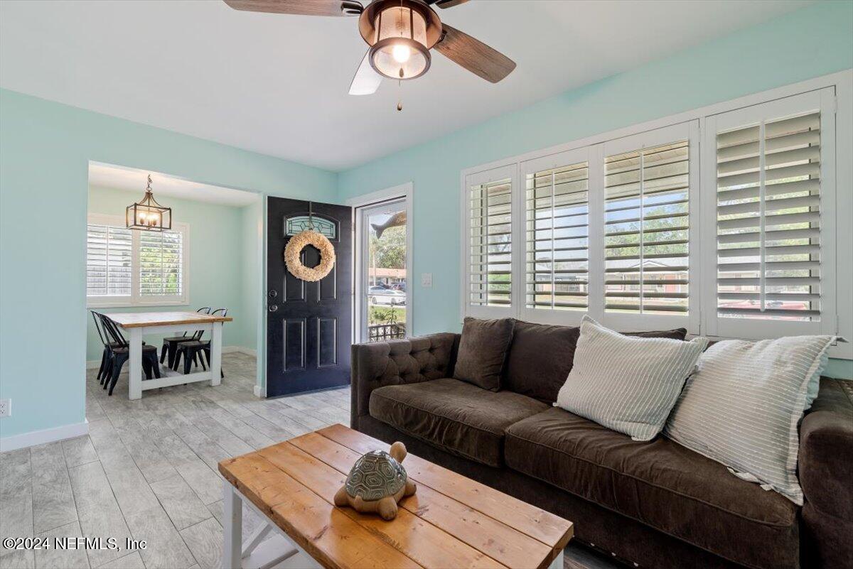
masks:
[[[714,314],[716,316],[716,276],[717,276],[717,263],[716,263],[716,249],[717,249],[717,241],[716,235],[709,239],[710,229],[708,227],[708,217],[714,215],[714,223],[713,230],[716,231],[716,210],[717,210],[717,186],[716,180],[712,187],[708,186],[707,177],[708,172],[706,170],[716,170],[716,145],[714,147],[709,148],[709,144],[705,141],[705,136],[709,131],[709,124],[707,124],[708,119],[713,117],[714,115],[721,114],[723,112],[735,111],[741,108],[745,108],[748,106],[756,106],[763,103],[768,103],[769,101],[776,101],[780,99],[784,99],[786,97],[791,97],[792,95],[801,95],[804,93],[809,93],[811,91],[817,91],[820,89],[831,88],[833,95],[830,99],[826,101],[827,111],[821,112],[821,129],[823,128],[822,121],[824,120],[832,120],[833,126],[835,127],[835,152],[833,153],[833,157],[828,159],[828,161],[833,162],[834,168],[827,171],[827,177],[834,178],[834,196],[833,199],[835,201],[835,220],[829,221],[827,220],[827,225],[824,225],[825,216],[832,213],[827,210],[827,207],[821,207],[821,232],[827,233],[827,239],[823,240],[826,242],[827,240],[833,239],[833,236],[828,233],[829,230],[825,229],[825,227],[833,227],[834,238],[833,242],[835,244],[835,250],[838,252],[835,255],[835,261],[829,261],[832,257],[823,256],[821,253],[821,259],[827,260],[827,267],[832,265],[832,270],[834,272],[835,278],[833,283],[828,283],[827,286],[823,287],[823,290],[830,290],[830,288],[834,289],[834,303],[831,299],[827,300],[827,302],[821,303],[821,312],[827,315],[833,315],[835,318],[835,326],[834,330],[828,330],[829,326],[821,325],[821,333],[827,334],[836,334],[838,336],[844,336],[851,342],[844,343],[839,342],[837,345],[830,348],[829,355],[833,358],[840,359],[853,359],[853,262],[850,262],[849,252],[853,251],[853,223],[850,220],[853,220],[853,161],[845,160],[845,159],[835,159],[835,157],[846,157],[853,156],[853,128],[850,127],[853,124],[853,69],[846,70],[843,72],[832,73],[823,77],[813,78],[806,81],[802,81],[799,83],[792,83],[790,85],[786,85],[783,87],[779,87],[776,89],[769,89],[760,93],[756,93],[753,95],[746,95],[731,101],[722,101],[720,103],[715,103],[709,106],[703,106],[697,109],[693,109],[686,112],[679,112],[674,115],[670,115],[669,117],[658,118],[651,121],[647,121],[642,124],[635,124],[628,127],[624,127],[622,129],[616,129],[609,132],[591,135],[586,138],[567,142],[565,144],[560,144],[554,147],[549,147],[541,150],[536,150],[532,152],[525,152],[523,154],[519,154],[518,156],[503,158],[501,160],[497,160],[495,162],[491,162],[488,164],[481,164],[479,166],[473,166],[472,168],[467,168],[462,170],[460,173],[460,181],[461,181],[461,244],[467,244],[467,235],[468,235],[468,218],[469,211],[467,206],[467,193],[468,188],[470,187],[469,180],[478,179],[477,176],[487,173],[491,170],[496,169],[515,169],[514,175],[514,215],[513,215],[513,223],[514,223],[514,275],[513,281],[516,284],[514,287],[514,296],[513,296],[513,304],[509,308],[503,307],[472,307],[469,305],[467,290],[468,290],[468,273],[467,273],[467,249],[465,247],[461,247],[461,287],[460,287],[460,315],[461,318],[465,316],[475,316],[479,318],[496,318],[502,316],[513,316],[518,318],[523,318],[526,320],[530,320],[533,322],[543,322],[543,323],[552,323],[552,324],[564,324],[564,325],[573,325],[577,323],[577,314],[575,311],[547,311],[547,310],[531,310],[525,311],[522,310],[524,306],[524,288],[519,287],[519,283],[522,283],[523,277],[519,275],[523,275],[524,272],[524,252],[526,250],[526,244],[524,242],[524,209],[523,209],[523,199],[524,199],[524,187],[522,185],[523,178],[520,174],[521,164],[531,162],[533,160],[537,160],[540,158],[548,158],[552,155],[559,154],[560,152],[568,152],[574,151],[577,149],[582,149],[583,147],[597,147],[591,149],[589,156],[589,164],[590,164],[590,179],[589,179],[589,235],[590,235],[590,262],[589,262],[589,271],[590,271],[590,290],[592,290],[593,279],[594,279],[594,269],[595,273],[603,274],[603,260],[600,260],[601,267],[595,267],[595,256],[593,255],[592,247],[594,243],[592,240],[595,238],[595,246],[601,248],[601,235],[595,234],[595,228],[599,227],[599,224],[593,223],[594,216],[601,217],[603,216],[603,175],[602,176],[593,176],[593,162],[595,160],[599,160],[601,164],[603,164],[603,152],[602,145],[608,141],[614,141],[616,139],[620,139],[630,135],[638,135],[641,133],[645,133],[647,131],[652,131],[654,129],[662,129],[665,127],[670,127],[678,124],[686,124],[691,121],[698,121],[699,124],[699,139],[698,144],[691,144],[691,161],[693,160],[693,152],[699,152],[699,168],[697,170],[693,170],[693,162],[691,162],[691,204],[690,204],[690,282],[691,282],[691,292],[699,293],[699,306],[697,309],[693,309],[693,299],[691,299],[690,307],[689,307],[689,319],[691,319],[691,323],[688,326],[688,330],[693,334],[702,334],[705,336],[710,336],[712,338],[725,338],[725,337],[757,337],[756,335],[750,336],[749,330],[727,330],[730,336],[722,336],[719,335],[720,330],[714,330],[713,326],[709,325],[711,320],[708,310],[711,306],[711,302],[715,303],[714,306]],[[828,127],[827,127],[828,129]],[[692,143],[692,139],[691,139]],[[821,138],[821,145],[824,144],[823,139]],[[598,155],[596,156],[596,152]],[[709,161],[707,153],[711,152],[713,155],[713,160]],[[823,160],[825,157],[821,153],[821,175],[823,175],[822,169],[825,167],[823,164]],[[547,162],[547,160],[546,160]],[[713,169],[709,168],[709,164],[714,164]],[[695,175],[694,175],[695,174]],[[507,177],[507,176],[503,176]],[[595,178],[600,177],[601,181],[596,181]],[[693,183],[694,181],[699,181],[699,196],[698,199],[694,199],[693,197]],[[821,200],[826,197],[826,193],[829,193],[830,190],[824,190],[824,187],[821,186]],[[601,206],[595,206],[595,204],[599,204],[601,202]],[[521,207],[519,207],[521,204]],[[595,209],[598,208],[596,211]],[[694,214],[698,214],[699,219],[694,219]],[[694,245],[695,244],[695,245]],[[710,251],[713,252],[710,252]],[[695,256],[699,255],[699,258],[696,259]],[[708,256],[711,257],[708,257]],[[711,263],[709,258],[713,259]],[[705,269],[704,272],[702,269]],[[822,269],[821,269],[822,270]],[[712,273],[712,274],[708,274]],[[598,277],[596,277],[598,278]],[[712,282],[711,282],[712,281]],[[599,286],[599,285],[596,285]],[[603,284],[600,285],[603,290]],[[591,299],[590,299],[591,301]],[[483,310],[482,308],[488,308],[487,310]],[[559,314],[549,314],[545,315],[543,313],[553,312]],[[601,307],[594,306],[593,302],[589,303],[589,314],[593,318],[596,315],[601,318],[601,314],[603,310]],[[583,313],[581,313],[583,314]],[[628,319],[622,318],[623,314],[614,314],[613,319],[607,319],[610,324],[615,324],[617,327],[627,330],[630,326],[630,322]],[[636,315],[635,315],[636,316]],[[643,317],[651,316],[651,315],[643,315]],[[668,317],[663,316],[664,319]],[[693,322],[693,319],[699,319],[698,324]],[[821,314],[821,322],[824,320],[824,316]],[[651,320],[647,320],[647,322],[651,323]],[[778,322],[778,321],[774,321]],[[827,324],[829,322],[829,316],[827,316]],[[663,324],[663,321],[660,323]],[[799,323],[793,323],[799,324]],[[646,325],[642,325],[641,327],[649,327]],[[657,327],[657,326],[651,326]],[[640,330],[641,328],[637,328]],[[800,328],[800,330],[804,330]],[[809,333],[806,331],[800,332],[782,332],[782,333]],[[778,334],[777,334],[778,335]],[[769,336],[763,336],[769,337]]]

